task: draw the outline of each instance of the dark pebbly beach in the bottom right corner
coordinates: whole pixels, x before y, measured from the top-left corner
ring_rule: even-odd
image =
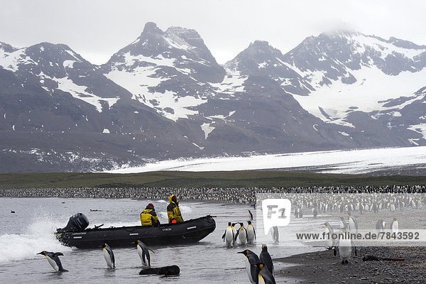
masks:
[[[373,255],[404,258],[404,261],[362,261]],[[425,283],[425,247],[359,247],[349,264],[342,265],[332,250],[275,258],[284,268],[275,275],[277,283]]]

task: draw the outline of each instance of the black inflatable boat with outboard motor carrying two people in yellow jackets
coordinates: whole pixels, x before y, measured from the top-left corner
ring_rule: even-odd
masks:
[[[159,226],[121,226],[86,229],[89,220],[82,213],[70,217],[67,226],[56,231],[56,238],[65,246],[78,249],[99,248],[104,243],[111,247],[136,246],[137,240],[147,246],[168,244],[190,244],[204,239],[216,228],[214,219],[207,215],[175,224]]]

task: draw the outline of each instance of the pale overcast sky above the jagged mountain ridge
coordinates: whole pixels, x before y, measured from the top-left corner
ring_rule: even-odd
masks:
[[[286,53],[304,38],[350,28],[426,45],[426,1],[6,0],[0,41],[17,48],[65,43],[94,64],[131,43],[148,21],[193,28],[219,63],[254,40]]]

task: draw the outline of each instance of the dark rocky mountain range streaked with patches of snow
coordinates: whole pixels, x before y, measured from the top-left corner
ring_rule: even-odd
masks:
[[[0,172],[426,145],[426,46],[339,31],[219,65],[197,31],[146,23],[102,66],[0,43]]]

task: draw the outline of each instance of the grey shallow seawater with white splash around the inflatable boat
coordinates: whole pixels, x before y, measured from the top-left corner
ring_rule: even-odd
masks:
[[[261,244],[235,246],[227,249],[221,237],[227,222],[249,220],[248,205],[207,202],[181,202],[185,219],[216,215],[217,228],[195,244],[153,246],[151,266],[178,265],[180,275],[163,277],[139,275],[141,259],[136,247],[114,249],[116,269],[107,268],[102,249],[75,249],[62,246],[53,234],[67,224],[70,216],[82,212],[89,226],[131,226],[140,223],[139,214],[148,202],[153,202],[160,222],[166,222],[165,200],[108,200],[61,198],[0,198],[0,283],[248,283],[245,258],[238,251],[251,249],[261,252]],[[90,209],[97,209],[91,212]],[[12,214],[11,210],[16,213]],[[253,220],[256,222],[256,217]],[[256,226],[256,224],[255,224]],[[261,234],[261,231],[256,231]],[[272,238],[269,238],[273,246]],[[61,251],[62,266],[69,272],[56,273],[40,251]],[[310,247],[281,244],[270,249],[273,258],[312,251]],[[279,271],[280,263],[275,263]],[[277,278],[277,283],[283,278]]]

